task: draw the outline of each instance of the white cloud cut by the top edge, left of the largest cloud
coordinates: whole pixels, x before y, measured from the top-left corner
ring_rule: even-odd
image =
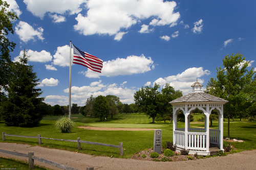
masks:
[[[57,13],[70,15],[81,12],[80,6],[85,3],[85,0],[24,0],[27,5],[28,11],[32,12],[33,15],[44,18],[46,13]]]

